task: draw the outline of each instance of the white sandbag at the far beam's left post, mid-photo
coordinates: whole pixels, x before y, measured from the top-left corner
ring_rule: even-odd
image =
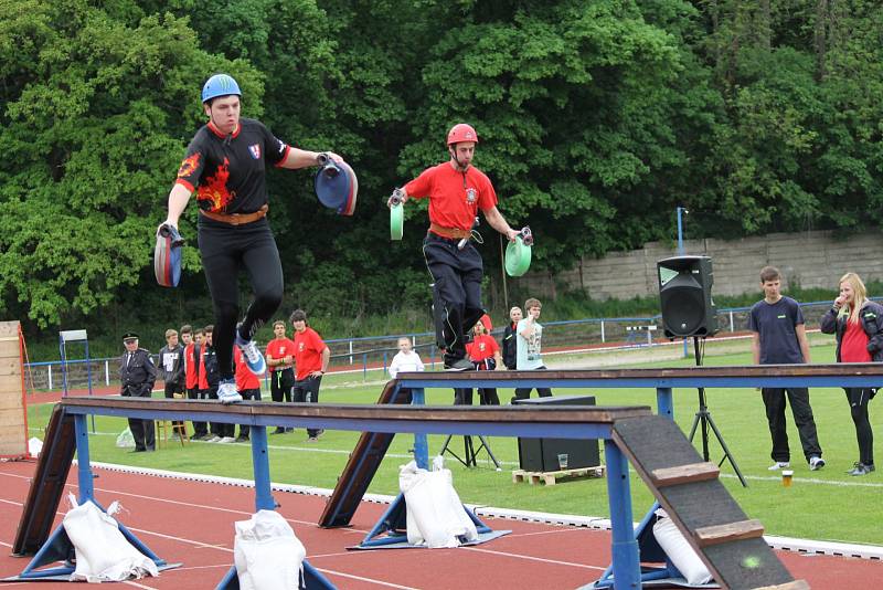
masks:
[[[408,544],[442,548],[478,539],[476,525],[466,514],[442,456],[433,460],[430,472],[413,461],[400,467],[398,486],[405,495]]]

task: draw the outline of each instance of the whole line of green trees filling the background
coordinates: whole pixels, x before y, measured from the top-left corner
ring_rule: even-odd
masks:
[[[357,170],[353,218],[319,206],[309,172],[269,175],[286,304],[352,335],[377,315],[428,324],[425,204],[391,243],[384,202],[446,159],[458,122],[479,133],[500,210],[531,225],[532,267],[553,275],[673,239],[679,206],[691,238],[883,215],[883,11],[870,0],[0,0],[0,307],[35,337],[211,318],[193,204],[179,289],[156,285],[151,256],[216,72],[243,87],[244,116]],[[481,232],[499,301],[500,244]]]

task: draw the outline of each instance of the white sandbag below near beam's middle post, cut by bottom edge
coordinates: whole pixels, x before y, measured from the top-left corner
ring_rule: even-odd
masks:
[[[300,588],[307,550],[279,513],[258,510],[235,528],[233,563],[241,590]]]

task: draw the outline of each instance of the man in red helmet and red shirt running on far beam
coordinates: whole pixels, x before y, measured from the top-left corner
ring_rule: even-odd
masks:
[[[448,131],[450,160],[424,170],[402,189],[389,206],[409,198],[429,199],[429,231],[423,255],[433,275],[436,338],[445,349],[445,368],[471,369],[466,356],[466,335],[485,314],[481,307],[481,254],[472,245],[478,210],[490,226],[513,241],[519,234],[497,209],[497,193],[488,177],[472,164],[478,135],[465,123]]]

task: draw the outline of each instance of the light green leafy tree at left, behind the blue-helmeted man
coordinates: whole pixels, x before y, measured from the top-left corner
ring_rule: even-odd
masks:
[[[255,95],[260,77],[200,51],[171,15],[130,27],[85,0],[2,12],[0,48],[15,57],[2,61],[0,294],[45,327],[106,306],[150,265],[203,72],[233,71]]]

